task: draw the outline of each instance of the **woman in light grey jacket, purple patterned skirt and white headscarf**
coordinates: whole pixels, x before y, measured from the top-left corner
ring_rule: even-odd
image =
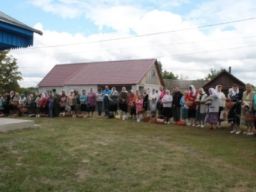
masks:
[[[205,124],[210,124],[210,129],[213,129],[216,131],[217,125],[218,125],[218,115],[219,115],[219,97],[216,93],[216,90],[214,88],[209,88],[209,97],[204,100],[204,102],[207,102],[208,99],[211,99],[212,102],[207,106],[207,115],[205,117]]]

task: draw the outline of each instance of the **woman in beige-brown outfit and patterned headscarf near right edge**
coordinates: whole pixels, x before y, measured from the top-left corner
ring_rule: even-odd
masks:
[[[246,135],[253,135],[253,122],[247,122],[245,120],[245,116],[248,113],[251,113],[250,110],[250,104],[252,103],[253,100],[253,95],[254,92],[252,90],[252,84],[247,83],[246,84],[246,91],[243,93],[243,98],[242,98],[242,108],[241,108],[241,125],[245,125],[247,127],[247,131],[243,132],[243,134]]]

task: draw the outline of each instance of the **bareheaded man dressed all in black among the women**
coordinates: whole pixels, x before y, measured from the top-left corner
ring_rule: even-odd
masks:
[[[179,87],[175,87],[175,92],[173,93],[172,109],[173,109],[173,123],[179,122],[180,120],[180,99],[183,96],[180,93]]]

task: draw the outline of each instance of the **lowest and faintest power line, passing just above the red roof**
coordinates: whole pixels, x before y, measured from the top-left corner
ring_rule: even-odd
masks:
[[[242,46],[242,47],[231,47],[227,49],[217,49],[217,50],[211,50],[211,51],[201,51],[201,52],[190,52],[190,53],[184,53],[184,54],[173,54],[173,55],[168,55],[168,56],[155,56],[151,58],[166,58],[166,57],[175,57],[175,56],[185,56],[185,55],[191,55],[191,54],[200,54],[200,53],[205,53],[205,52],[217,52],[217,51],[227,51],[227,50],[232,50],[232,49],[242,49],[246,47],[254,47],[256,45],[247,45],[247,46]],[[141,58],[137,58],[138,60]],[[71,64],[71,63],[70,63]],[[19,68],[45,68],[45,67],[54,67],[55,65],[49,65],[49,66],[44,66],[44,67],[19,67]]]

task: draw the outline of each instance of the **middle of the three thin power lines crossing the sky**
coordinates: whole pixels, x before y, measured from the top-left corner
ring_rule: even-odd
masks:
[[[56,54],[43,54],[40,56],[53,56],[53,55],[61,55],[61,54],[77,54],[77,53],[88,53],[88,52],[100,52],[100,51],[116,51],[116,50],[125,50],[125,49],[138,49],[138,48],[145,48],[145,47],[161,47],[161,46],[167,46],[167,45],[182,45],[182,44],[196,44],[200,42],[215,42],[215,41],[221,41],[221,40],[234,40],[234,39],[241,39],[241,38],[253,38],[255,36],[243,36],[243,37],[237,37],[237,38],[221,38],[221,39],[216,39],[216,40],[205,40],[205,41],[196,41],[196,42],[180,42],[180,43],[175,43],[175,44],[161,44],[161,45],[148,45],[148,46],[140,46],[140,47],[124,47],[124,48],[119,48],[119,49],[102,49],[102,50],[95,50],[95,51],[80,51],[80,52],[65,52],[65,53],[56,53]],[[22,57],[27,57],[26,55],[24,56],[19,56],[19,58]]]

